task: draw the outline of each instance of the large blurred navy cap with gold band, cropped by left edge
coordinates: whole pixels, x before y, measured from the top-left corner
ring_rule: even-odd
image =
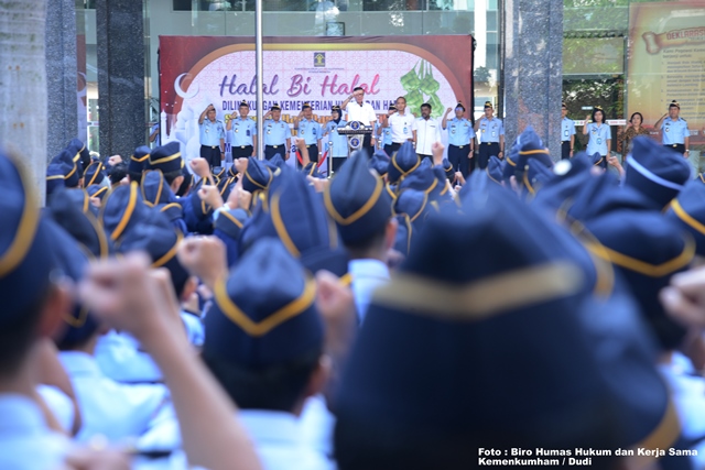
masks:
[[[22,168],[0,152],[0,325],[9,328],[46,292],[54,269],[34,186]]]

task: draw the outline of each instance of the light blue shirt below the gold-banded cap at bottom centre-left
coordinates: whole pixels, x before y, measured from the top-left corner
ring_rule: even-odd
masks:
[[[242,409],[242,426],[254,442],[264,470],[334,470],[335,462],[305,444],[300,422],[291,413]]]

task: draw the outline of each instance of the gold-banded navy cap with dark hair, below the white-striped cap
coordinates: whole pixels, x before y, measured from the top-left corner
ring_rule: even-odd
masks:
[[[662,348],[677,347],[686,330],[666,314],[659,291],[673,274],[690,267],[695,255],[693,238],[654,210],[614,209],[584,223],[599,241],[588,243],[588,249],[622,274]]]

